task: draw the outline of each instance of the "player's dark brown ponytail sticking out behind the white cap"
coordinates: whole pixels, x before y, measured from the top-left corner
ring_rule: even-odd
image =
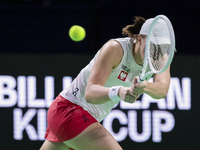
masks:
[[[134,24],[127,25],[122,29],[122,35],[128,37],[134,37],[138,35],[144,22],[145,19],[143,17],[136,16],[134,19]]]

